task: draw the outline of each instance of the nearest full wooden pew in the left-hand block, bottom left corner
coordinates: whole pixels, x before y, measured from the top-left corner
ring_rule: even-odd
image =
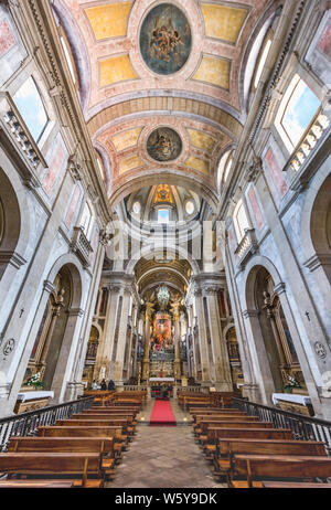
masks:
[[[50,476],[54,478],[79,477],[73,481],[74,487],[100,488],[104,477],[99,454],[71,453],[7,453],[0,454],[0,472],[9,477]]]

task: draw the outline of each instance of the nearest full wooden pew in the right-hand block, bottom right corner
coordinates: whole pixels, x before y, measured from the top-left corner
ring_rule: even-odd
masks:
[[[331,457],[323,456],[234,455],[233,467],[236,477],[245,477],[245,480],[232,479],[234,488],[261,488],[260,478],[303,481],[331,477]]]

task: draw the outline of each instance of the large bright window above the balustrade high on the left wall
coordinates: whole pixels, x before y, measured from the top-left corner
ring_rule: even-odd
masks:
[[[13,102],[30,130],[31,136],[38,142],[49,123],[49,116],[44,107],[42,95],[32,76],[30,76],[13,95]]]

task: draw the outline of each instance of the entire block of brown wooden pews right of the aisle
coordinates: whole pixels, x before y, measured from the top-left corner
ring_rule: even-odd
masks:
[[[201,400],[201,403],[203,400]],[[331,458],[322,442],[232,407],[189,404],[193,434],[214,475],[231,488],[331,488]]]

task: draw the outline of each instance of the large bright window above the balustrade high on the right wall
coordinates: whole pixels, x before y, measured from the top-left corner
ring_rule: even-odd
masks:
[[[291,153],[301,141],[321,107],[321,102],[306,82],[296,74],[276,117],[276,128]]]

